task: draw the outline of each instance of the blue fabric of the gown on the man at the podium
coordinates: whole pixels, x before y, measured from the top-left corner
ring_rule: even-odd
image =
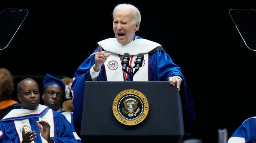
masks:
[[[137,37],[140,39],[139,36]],[[96,53],[97,51],[98,48],[96,48],[93,53]],[[80,135],[81,129],[80,126],[83,111],[85,81],[91,81],[90,69],[94,65],[94,59],[95,55],[92,54],[79,66],[79,68],[76,70],[74,81],[72,83],[72,90],[74,92],[74,127],[78,135]],[[145,62],[147,61],[145,60]],[[123,72],[120,74],[123,74]],[[191,135],[193,132],[195,132],[196,128],[196,115],[192,97],[180,67],[172,62],[172,59],[164,51],[162,46],[160,48],[158,47],[155,51],[148,53],[148,81],[168,81],[169,77],[175,75],[182,78],[180,95],[183,106],[184,128],[185,133],[187,135]],[[107,81],[104,64],[101,66],[97,81]],[[130,77],[128,77],[128,81],[130,81]]]

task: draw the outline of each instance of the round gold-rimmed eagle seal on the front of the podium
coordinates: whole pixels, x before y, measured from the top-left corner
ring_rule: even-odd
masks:
[[[138,90],[127,89],[115,97],[112,110],[120,123],[137,125],[148,115],[148,99]]]

